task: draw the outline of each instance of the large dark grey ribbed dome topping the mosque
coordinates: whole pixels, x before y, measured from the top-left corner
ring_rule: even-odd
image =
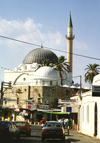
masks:
[[[30,51],[23,60],[24,64],[38,63],[42,64],[45,59],[50,59],[53,63],[57,61],[58,57],[50,50],[38,48]]]

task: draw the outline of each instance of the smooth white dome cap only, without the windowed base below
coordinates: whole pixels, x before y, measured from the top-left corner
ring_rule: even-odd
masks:
[[[44,66],[34,73],[34,79],[60,79],[60,76],[53,68]]]

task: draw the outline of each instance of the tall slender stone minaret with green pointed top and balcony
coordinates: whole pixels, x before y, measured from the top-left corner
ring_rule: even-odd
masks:
[[[72,73],[73,68],[73,24],[71,19],[71,13],[69,16],[69,23],[68,23],[68,35],[66,36],[67,39],[67,65],[69,68],[69,72]]]

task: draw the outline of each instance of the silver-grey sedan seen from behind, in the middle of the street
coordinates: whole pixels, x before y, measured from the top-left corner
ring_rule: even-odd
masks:
[[[42,127],[42,141],[49,138],[65,140],[64,128],[60,122],[47,121]]]

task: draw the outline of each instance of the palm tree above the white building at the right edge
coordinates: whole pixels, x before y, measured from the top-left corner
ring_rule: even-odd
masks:
[[[96,63],[87,65],[87,68],[85,69],[87,70],[87,72],[85,73],[85,82],[89,82],[90,84],[92,84],[94,76],[99,74],[98,69],[100,68],[98,68],[98,66],[99,65]]]

